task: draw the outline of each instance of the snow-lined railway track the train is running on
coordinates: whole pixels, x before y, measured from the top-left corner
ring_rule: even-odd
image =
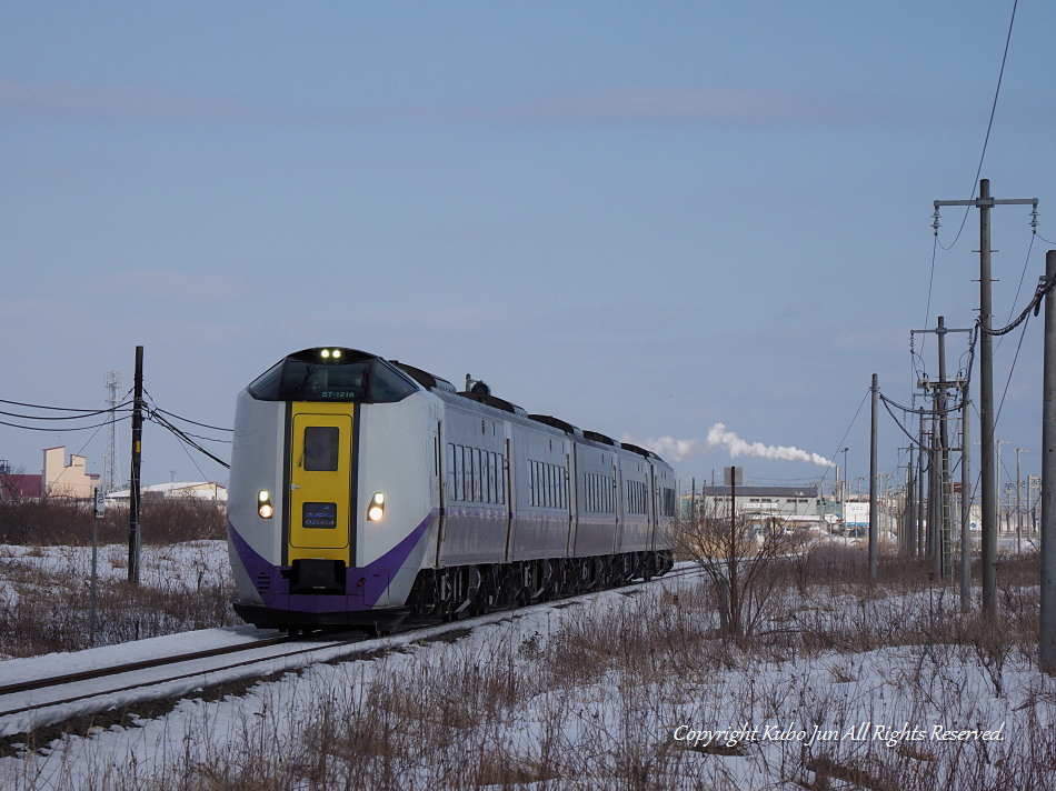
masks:
[[[675,569],[654,581],[663,582],[695,573],[699,571]],[[604,592],[629,592],[642,584],[644,581],[638,581]],[[63,722],[74,719],[158,700],[179,699],[200,693],[203,689],[296,671],[316,662],[351,659],[356,654],[391,650],[399,645],[436,639],[451,631],[496,623],[517,612],[566,605],[569,601],[589,599],[599,593],[602,592],[562,597],[549,602],[529,604],[516,610],[496,610],[485,615],[444,624],[411,623],[383,638],[366,637],[361,633],[312,635],[301,640],[291,640],[286,635],[261,637],[208,649],[176,650],[135,661],[107,661],[99,667],[43,678],[23,678],[0,684],[0,739],[8,744],[17,743],[22,737],[40,729],[61,731]],[[109,651],[107,655],[110,655],[119,650],[120,647],[109,647],[97,651]]]

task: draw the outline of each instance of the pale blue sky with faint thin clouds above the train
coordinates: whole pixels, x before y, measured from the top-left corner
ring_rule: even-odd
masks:
[[[230,427],[272,363],[345,346],[652,447],[687,489],[730,464],[830,489],[835,460],[865,490],[871,374],[923,405],[936,342],[910,349],[910,331],[975,320],[979,212],[943,209],[938,244],[932,213],[974,197],[984,140],[993,196],[1039,201],[1038,237],[1030,207],[992,212],[995,323],[1056,249],[1056,7],[1018,3],[1002,73],[1012,17],[953,0],[4,3],[0,398],[104,408],[107,372],[130,388],[143,346],[155,404]],[[1040,320],[1022,338],[995,356],[1003,481],[1015,448],[1039,472]],[[966,339],[948,337],[950,372]],[[740,440],[799,452],[734,457]],[[908,443],[881,412],[888,480]],[[103,471],[106,430],[0,424],[14,469],[59,444]],[[227,479],[156,423],[142,459],[145,483]]]

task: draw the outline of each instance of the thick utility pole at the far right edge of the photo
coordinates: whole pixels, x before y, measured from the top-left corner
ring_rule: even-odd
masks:
[[[1045,256],[1045,278],[1056,278],[1056,250]],[[1042,627],[1038,664],[1056,675],[1056,294],[1045,297],[1042,373]]]

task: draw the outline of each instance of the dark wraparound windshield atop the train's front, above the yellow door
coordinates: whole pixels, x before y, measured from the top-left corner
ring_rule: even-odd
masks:
[[[323,358],[321,351],[290,354],[258,377],[250,394],[261,401],[393,403],[418,389],[379,358],[345,350]]]

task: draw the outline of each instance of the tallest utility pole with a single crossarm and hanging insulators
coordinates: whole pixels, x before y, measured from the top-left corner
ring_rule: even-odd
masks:
[[[979,485],[983,490],[983,611],[997,614],[997,485],[994,477],[994,342],[990,324],[990,209],[995,206],[1029,204],[1037,210],[1037,198],[997,200],[990,197],[990,180],[979,180],[979,197],[974,200],[935,201],[938,234],[940,206],[974,206],[979,210],[979,422],[983,454]]]

